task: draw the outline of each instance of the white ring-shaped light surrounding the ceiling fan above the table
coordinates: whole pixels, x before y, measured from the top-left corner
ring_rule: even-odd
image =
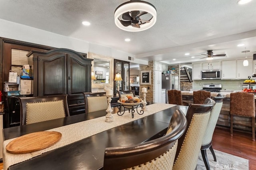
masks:
[[[122,14],[126,12],[131,12],[131,11],[147,12],[152,16],[152,18],[150,19],[150,22],[140,24],[140,27],[132,27],[132,25],[125,27],[120,22],[119,17],[122,16]],[[114,20],[115,20],[116,26],[124,31],[131,31],[131,32],[144,31],[146,29],[149,29],[156,23],[156,8],[149,2],[145,2],[142,0],[131,0],[129,2],[125,2],[121,4],[116,8],[114,12]]]

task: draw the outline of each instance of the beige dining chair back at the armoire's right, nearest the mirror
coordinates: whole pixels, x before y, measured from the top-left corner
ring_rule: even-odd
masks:
[[[85,92],[84,94],[84,104],[85,104],[85,113],[90,113],[98,110],[106,110],[108,108],[108,100],[106,92],[100,93],[90,93]]]

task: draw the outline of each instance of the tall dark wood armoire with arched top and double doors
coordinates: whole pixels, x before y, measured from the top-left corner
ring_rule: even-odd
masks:
[[[70,49],[30,51],[27,56],[34,80],[33,96],[68,94],[70,115],[85,113],[82,92],[91,92],[93,59]]]

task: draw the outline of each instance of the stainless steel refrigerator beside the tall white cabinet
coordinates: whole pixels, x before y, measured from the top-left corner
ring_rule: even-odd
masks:
[[[162,74],[162,89],[165,88],[165,103],[168,103],[168,90],[179,90],[179,75],[178,74]]]

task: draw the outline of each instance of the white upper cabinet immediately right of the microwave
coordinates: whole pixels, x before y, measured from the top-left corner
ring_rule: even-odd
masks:
[[[236,60],[221,62],[221,79],[236,79]]]

